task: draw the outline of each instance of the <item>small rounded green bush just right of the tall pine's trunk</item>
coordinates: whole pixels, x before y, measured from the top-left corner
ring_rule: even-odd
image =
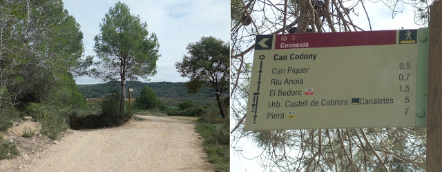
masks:
[[[153,109],[159,107],[160,104],[161,101],[157,99],[155,91],[148,86],[145,86],[142,89],[140,96],[135,98],[135,107],[140,109]]]

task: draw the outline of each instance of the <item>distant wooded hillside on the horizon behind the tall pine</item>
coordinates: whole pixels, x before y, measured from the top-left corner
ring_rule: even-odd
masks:
[[[203,103],[204,105],[210,105],[215,103],[215,89],[203,88],[197,94],[187,94],[187,89],[184,83],[142,83],[139,81],[126,81],[126,91],[128,87],[133,89],[131,92],[131,98],[137,98],[140,96],[140,92],[144,86],[151,87],[157,98],[162,100],[191,100],[195,103]],[[79,92],[83,94],[84,98],[103,98],[111,90],[121,90],[119,82],[109,82],[104,84],[93,85],[78,85]],[[127,92],[126,92],[127,96]],[[229,96],[229,92],[224,92],[222,97]]]

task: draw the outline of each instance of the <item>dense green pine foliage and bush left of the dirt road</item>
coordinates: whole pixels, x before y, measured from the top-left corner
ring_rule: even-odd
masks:
[[[88,65],[82,39],[61,0],[0,1],[0,127],[41,107],[41,133],[56,139],[68,128],[66,116],[86,107],[72,74]]]

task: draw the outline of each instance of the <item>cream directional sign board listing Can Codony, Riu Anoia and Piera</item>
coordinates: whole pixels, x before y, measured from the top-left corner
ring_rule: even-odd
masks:
[[[428,30],[260,35],[246,130],[426,126]]]

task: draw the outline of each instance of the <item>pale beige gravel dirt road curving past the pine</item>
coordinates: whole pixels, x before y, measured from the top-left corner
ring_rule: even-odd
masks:
[[[14,171],[212,171],[193,122],[139,118],[144,120],[75,131]]]

